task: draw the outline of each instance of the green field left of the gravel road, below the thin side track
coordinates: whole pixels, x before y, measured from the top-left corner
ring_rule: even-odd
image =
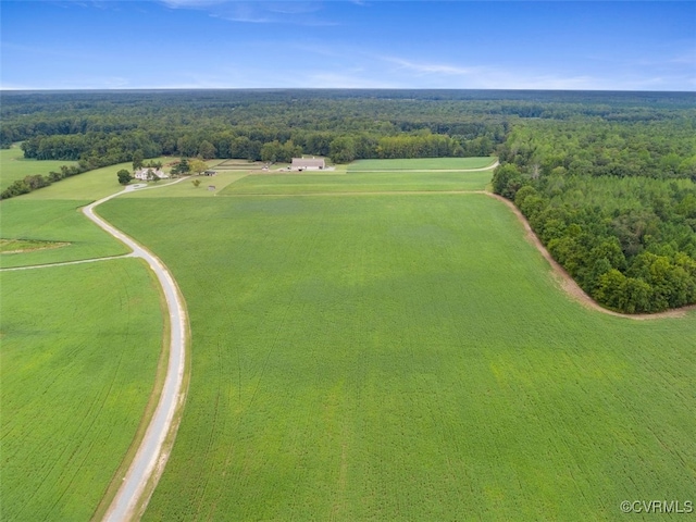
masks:
[[[1,278],[1,518],[87,521],[152,390],[154,278],[133,259]]]

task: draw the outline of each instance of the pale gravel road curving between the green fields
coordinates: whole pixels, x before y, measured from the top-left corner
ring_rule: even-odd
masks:
[[[132,185],[120,192],[107,196],[83,208],[83,213],[90,221],[133,250],[130,257],[140,258],[150,266],[160,284],[161,296],[163,296],[166,303],[167,315],[164,323],[167,323],[166,319],[169,318],[170,325],[169,341],[165,345],[170,348],[169,362],[164,384],[162,389],[159,390],[159,401],[145,435],[138,444],[135,457],[128,465],[128,471],[123,477],[123,483],[109,505],[103,519],[107,521],[115,522],[137,518],[140,514],[139,512],[147,506],[149,495],[151,495],[164,471],[166,459],[176,436],[188,388],[186,351],[189,340],[189,326],[184,296],[166,265],[146,247],[99,216],[95,209],[113,198],[134,190],[166,187],[187,178],[188,176],[172,183],[150,187]],[[152,394],[153,391],[150,393]],[[114,477],[114,480],[117,478],[117,476]],[[146,492],[147,498],[145,498]]]

